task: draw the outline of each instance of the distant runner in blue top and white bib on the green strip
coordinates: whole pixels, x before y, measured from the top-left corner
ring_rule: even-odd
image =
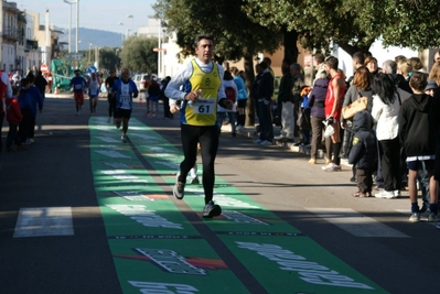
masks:
[[[122,123],[120,140],[127,143],[128,122],[131,117],[133,98],[138,97],[138,87],[130,78],[130,70],[122,68],[120,79],[116,79],[111,87],[111,94],[115,96],[115,123],[119,129]]]

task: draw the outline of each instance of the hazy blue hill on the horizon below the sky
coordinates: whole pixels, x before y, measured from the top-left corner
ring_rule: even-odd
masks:
[[[68,29],[58,29],[64,34],[60,34],[60,42],[68,42]],[[76,28],[72,28],[72,52],[75,51],[75,34]],[[89,44],[92,43],[92,47],[121,47],[122,40],[125,35],[121,33],[115,33],[103,30],[94,30],[79,28],[78,30],[78,51],[87,51],[89,50]],[[66,45],[65,48],[68,48]]]

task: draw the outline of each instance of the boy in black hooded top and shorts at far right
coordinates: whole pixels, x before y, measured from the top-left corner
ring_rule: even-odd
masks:
[[[425,165],[429,176],[430,204],[428,221],[438,220],[438,197],[434,173],[436,134],[438,126],[430,123],[429,111],[433,107],[433,98],[426,95],[427,77],[415,72],[409,80],[412,96],[403,102],[399,113],[399,141],[407,154],[408,192],[411,203],[409,221],[420,221],[420,210],[417,203],[417,174],[420,165]]]

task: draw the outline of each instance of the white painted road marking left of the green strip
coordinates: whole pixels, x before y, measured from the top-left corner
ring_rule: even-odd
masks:
[[[71,207],[21,208],[13,238],[73,236]]]

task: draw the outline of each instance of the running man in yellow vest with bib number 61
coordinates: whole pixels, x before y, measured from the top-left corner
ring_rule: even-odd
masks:
[[[184,160],[180,164],[180,174],[174,184],[173,195],[178,199],[184,196],[186,176],[194,167],[197,143],[202,148],[203,189],[205,207],[202,216],[212,218],[222,214],[222,208],[213,202],[214,162],[218,149],[216,126],[217,104],[232,109],[232,101],[226,99],[223,88],[223,68],[212,61],[214,39],[211,35],[195,37],[196,58],[187,62],[170,80],[165,96],[170,98],[171,112],[178,110],[176,100],[181,105],[181,138]],[[183,86],[183,91],[180,87]]]

